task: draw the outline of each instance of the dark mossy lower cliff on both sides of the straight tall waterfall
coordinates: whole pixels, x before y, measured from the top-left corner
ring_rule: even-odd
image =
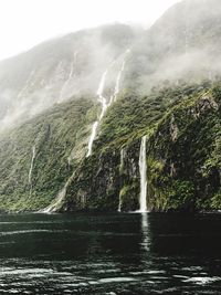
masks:
[[[220,208],[219,93],[214,87],[194,94],[162,115],[151,129],[146,129],[149,210]],[[122,211],[138,210],[140,138],[128,139],[123,146],[115,143],[105,150],[97,146],[70,186],[62,210],[117,210],[118,202]],[[124,162],[120,149],[124,149]]]

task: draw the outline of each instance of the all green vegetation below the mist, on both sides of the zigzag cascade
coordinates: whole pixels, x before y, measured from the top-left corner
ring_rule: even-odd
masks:
[[[43,209],[70,179],[61,211],[116,211],[119,200],[122,210],[137,210],[144,135],[150,210],[220,209],[220,84],[208,82],[147,96],[124,92],[108,108],[88,158],[97,105],[82,98],[55,106],[1,136],[0,209]]]

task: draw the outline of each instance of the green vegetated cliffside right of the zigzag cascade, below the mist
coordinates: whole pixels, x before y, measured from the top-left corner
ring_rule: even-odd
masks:
[[[75,210],[82,193],[85,209],[116,210],[120,198],[123,210],[137,210],[140,138],[148,134],[149,209],[219,209],[218,94],[219,86],[208,82],[154,89],[145,97],[122,94],[104,118],[93,157],[70,186],[66,208]]]

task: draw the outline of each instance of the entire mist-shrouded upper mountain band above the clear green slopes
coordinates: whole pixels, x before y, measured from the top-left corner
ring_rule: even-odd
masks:
[[[200,7],[200,9],[198,9]],[[221,3],[181,1],[149,29],[120,23],[80,30],[49,40],[0,62],[0,130],[31,119],[69,99],[97,101],[97,87],[108,70],[109,102],[127,50],[120,91],[141,95],[169,81],[200,83],[221,72],[219,34]]]

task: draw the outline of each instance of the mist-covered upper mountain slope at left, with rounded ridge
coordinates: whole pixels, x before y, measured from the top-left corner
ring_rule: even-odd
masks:
[[[93,97],[109,67],[108,86],[113,87],[124,53],[135,38],[127,25],[101,27],[48,41],[2,61],[0,130],[73,95]]]

